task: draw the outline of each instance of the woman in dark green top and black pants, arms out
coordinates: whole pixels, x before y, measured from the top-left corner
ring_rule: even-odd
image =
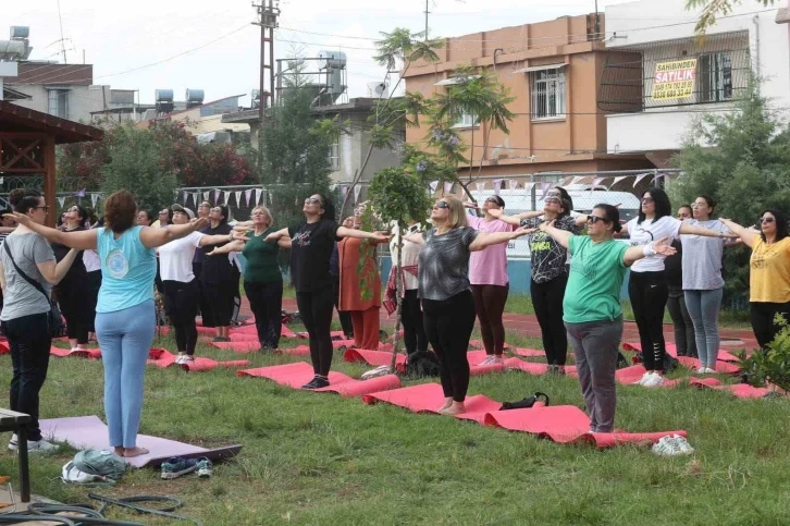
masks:
[[[274,219],[267,207],[255,207],[251,222],[243,223],[248,229],[248,241],[235,241],[209,254],[215,256],[240,252],[247,260],[244,268],[244,293],[255,316],[261,351],[277,348],[282,331],[283,274],[277,264],[277,254],[281,246],[289,246],[289,241],[267,243],[267,235],[274,232],[273,224]]]

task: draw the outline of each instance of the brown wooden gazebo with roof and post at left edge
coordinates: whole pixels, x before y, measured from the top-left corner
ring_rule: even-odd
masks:
[[[60,119],[0,100],[0,176],[44,175],[44,195],[55,221],[54,147],[59,144],[101,140],[98,127]]]

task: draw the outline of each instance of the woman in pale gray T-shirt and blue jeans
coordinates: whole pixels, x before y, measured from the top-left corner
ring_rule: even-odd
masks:
[[[729,233],[729,229],[711,216],[716,203],[711,196],[701,195],[691,204],[694,219],[688,224],[703,227],[717,232]],[[686,308],[694,325],[696,353],[700,356],[698,374],[716,371],[718,357],[718,311],[721,308],[724,278],[721,257],[726,238],[681,235],[683,244],[683,296]]]

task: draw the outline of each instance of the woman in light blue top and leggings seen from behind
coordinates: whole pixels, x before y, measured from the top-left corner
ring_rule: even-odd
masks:
[[[104,412],[110,445],[118,455],[126,457],[148,453],[137,445],[137,430],[156,322],[153,249],[208,223],[206,219],[193,219],[187,224],[152,229],[135,225],[136,212],[132,193],[120,191],[107,199],[104,227],[100,229],[61,232],[35,223],[25,215],[13,215],[20,224],[52,243],[99,254],[102,281],[96,306],[96,335],[104,366]]]

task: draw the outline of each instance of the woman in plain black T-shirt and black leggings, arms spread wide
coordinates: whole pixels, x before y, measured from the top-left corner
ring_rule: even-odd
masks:
[[[272,232],[266,238],[275,243],[291,238],[291,279],[296,289],[296,304],[310,337],[310,359],[314,377],[303,389],[320,389],[329,386],[332,367],[332,309],[334,291],[330,274],[330,258],[338,237],[358,237],[386,242],[388,237],[377,232],[338,227],[332,201],[320,194],[305,199],[301,209],[305,221],[287,229]]]

